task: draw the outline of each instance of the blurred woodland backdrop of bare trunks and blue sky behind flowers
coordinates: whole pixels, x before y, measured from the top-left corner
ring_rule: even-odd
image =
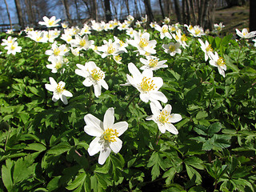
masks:
[[[148,23],[170,18],[170,23],[199,25],[212,30],[223,22],[226,31],[234,28],[255,30],[255,0],[0,0],[0,30],[39,27],[43,16],[61,18],[69,26],[91,20],[123,21],[127,15]]]

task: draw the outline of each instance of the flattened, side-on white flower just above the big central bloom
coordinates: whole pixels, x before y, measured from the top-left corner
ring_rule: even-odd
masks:
[[[160,68],[166,68],[168,67],[167,65],[163,65],[164,63],[167,62],[167,60],[164,61],[158,61],[159,58],[153,57],[153,56],[146,56],[145,58],[140,58],[139,61],[144,64],[140,69],[141,70],[158,70]]]

